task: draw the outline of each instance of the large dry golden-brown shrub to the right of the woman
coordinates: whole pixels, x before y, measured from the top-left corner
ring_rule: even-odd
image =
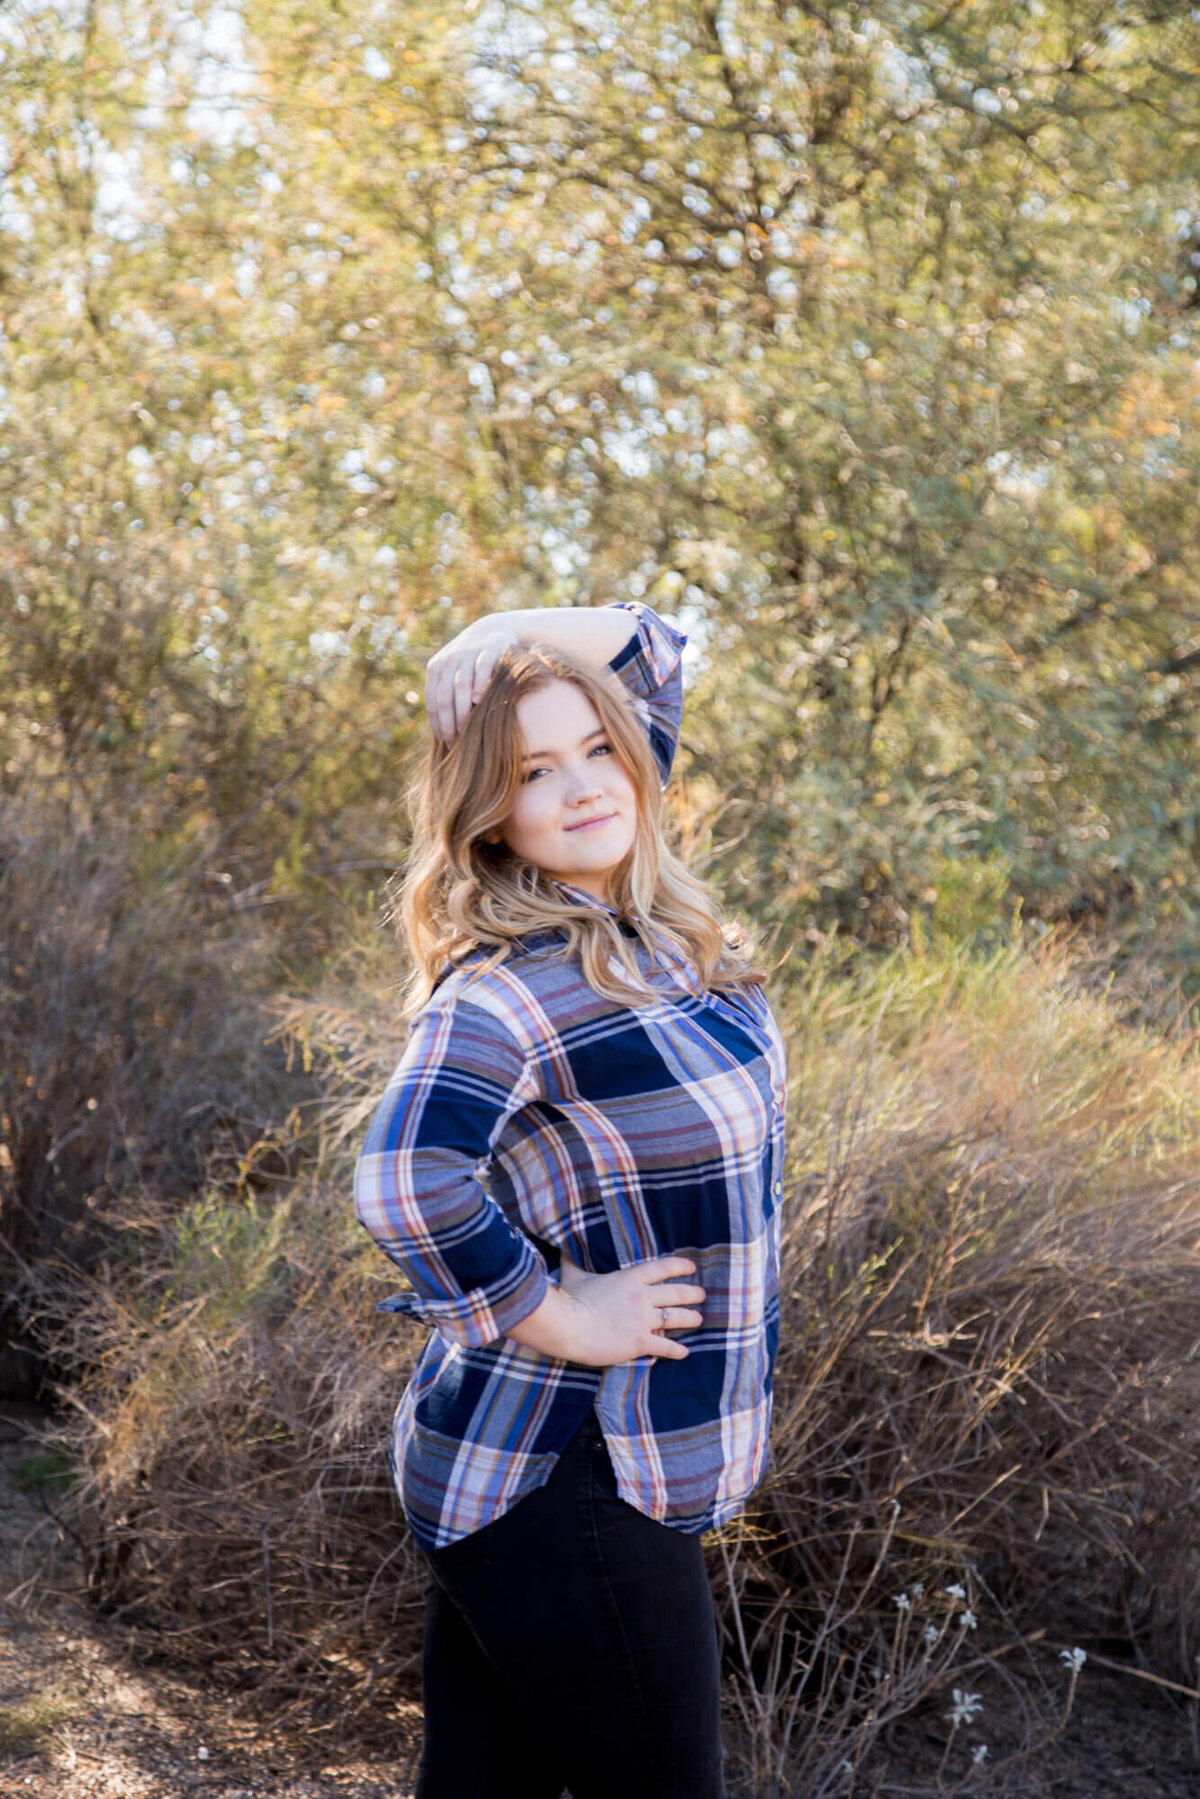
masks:
[[[1078,1673],[1031,1641],[1195,1686],[1200,1063],[1076,964],[826,964],[786,1007],[772,1475],[714,1560],[754,1792],[873,1790],[914,1707],[950,1745],[954,1680],[984,1713],[912,1790],[1004,1790]]]

